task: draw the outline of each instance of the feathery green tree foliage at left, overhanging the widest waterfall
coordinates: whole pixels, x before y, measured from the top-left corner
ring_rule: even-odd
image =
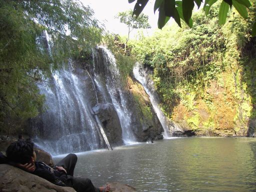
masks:
[[[0,0],[1,132],[11,133],[11,127],[37,115],[44,96],[36,83],[100,41],[101,28],[92,14],[73,0]],[[50,53],[44,30],[51,35]]]

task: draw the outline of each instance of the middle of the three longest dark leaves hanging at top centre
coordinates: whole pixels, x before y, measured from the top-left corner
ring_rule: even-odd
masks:
[[[175,0],[164,0],[165,16],[173,17],[179,27],[181,27],[180,17],[177,9],[175,8]]]

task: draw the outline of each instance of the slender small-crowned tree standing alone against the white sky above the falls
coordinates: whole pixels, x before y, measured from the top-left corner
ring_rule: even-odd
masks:
[[[126,51],[126,45],[129,40],[130,32],[135,28],[151,28],[150,24],[148,23],[148,16],[141,13],[136,18],[132,16],[132,10],[127,10],[124,12],[119,12],[116,18],[120,19],[121,23],[124,23],[128,26],[128,37],[126,38],[124,51]]]

